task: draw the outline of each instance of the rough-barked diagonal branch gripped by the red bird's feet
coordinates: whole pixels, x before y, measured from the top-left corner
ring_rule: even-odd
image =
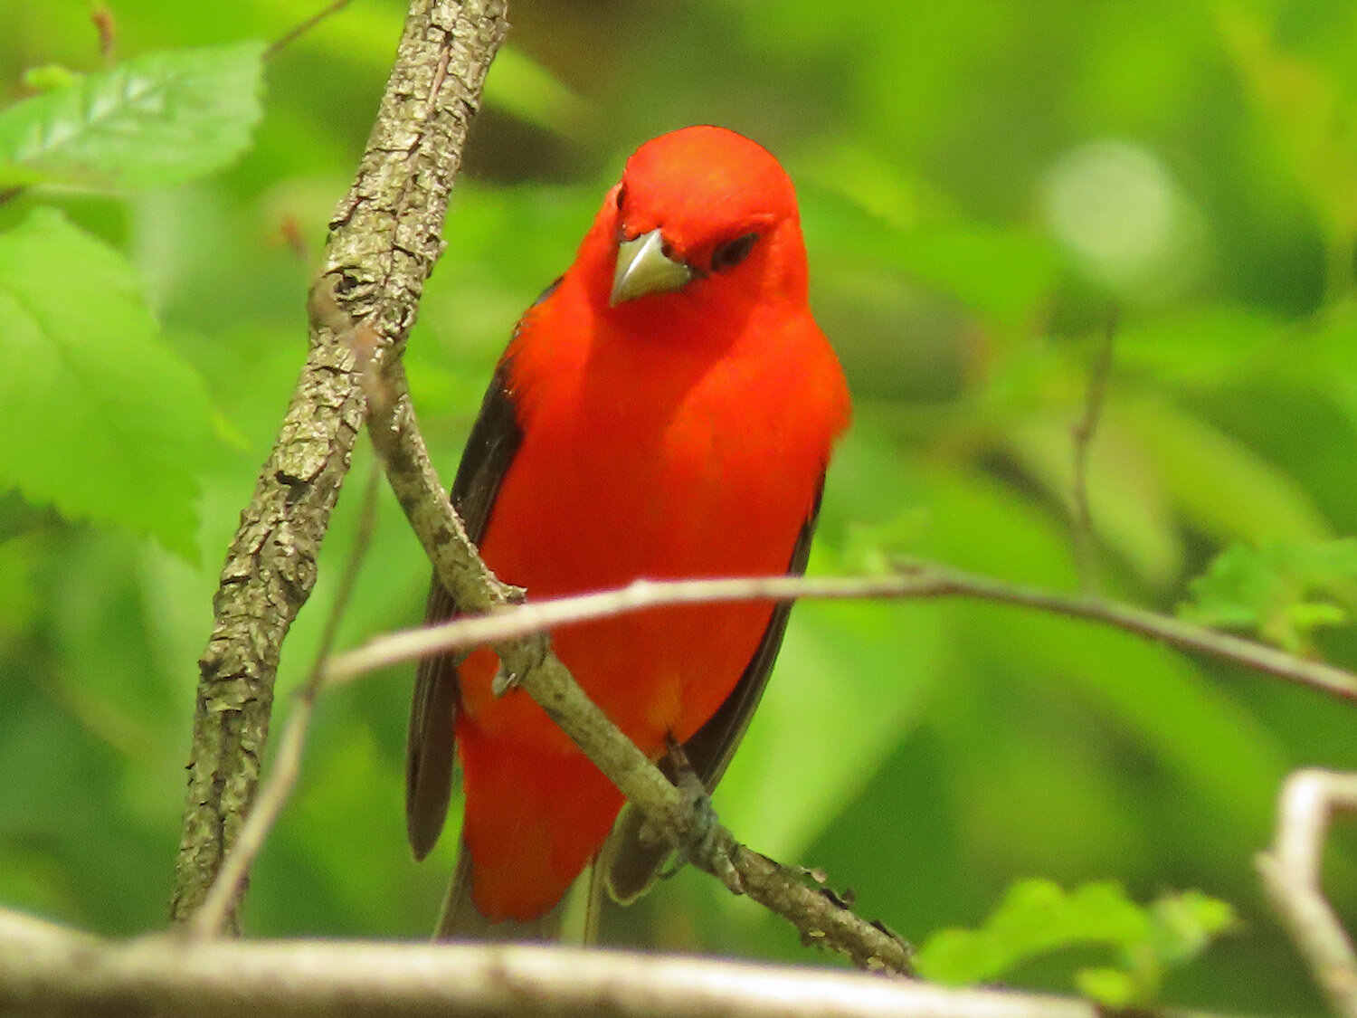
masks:
[[[370,404],[373,445],[438,580],[459,605],[474,611],[509,603],[517,590],[495,580],[480,561],[429,461],[403,372],[391,372],[387,391]],[[697,828],[693,804],[594,706],[546,637],[529,630],[493,645],[509,683],[521,685],[657,831],[688,848],[689,862],[782,915],[809,943],[839,951],[859,968],[911,970],[909,947],[898,937],[854,915],[822,888],[807,886],[799,871],[749,851],[723,827],[691,846]]]

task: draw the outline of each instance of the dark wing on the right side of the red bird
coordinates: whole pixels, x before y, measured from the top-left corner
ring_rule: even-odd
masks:
[[[806,571],[806,559],[810,558],[810,539],[820,517],[824,478],[820,483],[821,487],[816,493],[810,516],[801,527],[801,533],[797,536],[797,544],[791,552],[791,562],[787,563],[788,576],[802,576]],[[688,763],[708,793],[716,787],[716,782],[726,772],[730,757],[735,755],[740,740],[744,738],[745,730],[749,728],[754,707],[763,698],[773,661],[778,660],[778,650],[782,649],[782,638],[787,631],[790,614],[791,601],[783,601],[773,608],[772,618],[768,619],[768,628],[764,630],[763,639],[759,641],[759,647],[745,666],[744,675],[740,676],[735,688],[716,709],[716,713],[707,719],[707,723],[684,742]],[[660,767],[670,780],[674,779],[666,760],[661,760]],[[650,844],[641,837],[643,824],[645,817],[641,812],[628,808],[622,820],[617,821],[605,848],[604,865],[607,866],[608,892],[613,900],[622,904],[630,904],[646,892],[670,852],[668,844]]]

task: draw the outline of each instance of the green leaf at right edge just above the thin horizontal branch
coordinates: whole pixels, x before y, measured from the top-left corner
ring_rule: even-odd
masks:
[[[1304,652],[1314,630],[1348,622],[1334,600],[1350,603],[1354,580],[1357,539],[1236,544],[1191,581],[1178,615],[1200,626],[1253,630]]]

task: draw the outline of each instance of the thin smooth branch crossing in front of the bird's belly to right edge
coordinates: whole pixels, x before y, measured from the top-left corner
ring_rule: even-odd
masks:
[[[1196,654],[1225,661],[1276,679],[1357,702],[1357,675],[1322,661],[1288,654],[1265,643],[1219,630],[1193,626],[1167,615],[1110,604],[1098,599],[1072,597],[1031,586],[965,573],[936,565],[912,565],[904,573],[881,577],[754,577],[735,580],[638,580],[620,590],[532,601],[502,608],[491,615],[460,618],[427,628],[404,630],[379,637],[330,662],[330,681],[411,661],[434,653],[465,650],[483,643],[499,645],[524,639],[574,622],[589,622],[623,612],[678,604],[772,600],[802,597],[824,600],[970,597],[1088,622],[1099,622],[1126,633]]]

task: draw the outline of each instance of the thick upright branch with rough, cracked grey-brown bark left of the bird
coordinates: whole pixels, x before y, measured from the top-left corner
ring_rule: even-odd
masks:
[[[213,600],[216,620],[199,660],[175,920],[201,904],[254,798],[282,641],[315,584],[320,542],[364,422],[349,326],[362,323],[377,364],[404,342],[440,252],[448,193],[505,27],[505,0],[410,5],[357,178],[330,224],[307,362]]]

